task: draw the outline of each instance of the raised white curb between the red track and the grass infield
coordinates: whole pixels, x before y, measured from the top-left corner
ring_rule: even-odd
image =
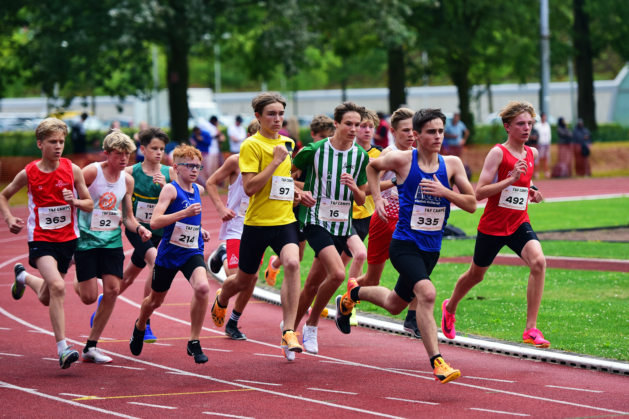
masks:
[[[213,256],[213,254],[211,256]],[[221,284],[225,280],[225,272],[222,268],[218,274],[211,272],[209,269],[208,272],[211,273],[211,275]],[[270,304],[279,305],[280,307],[282,306],[279,294],[261,289],[260,287],[255,287],[255,290],[253,290],[253,298],[269,302]],[[337,310],[328,309],[327,318],[334,320],[336,314]],[[409,332],[404,330],[404,327],[401,324],[372,319],[365,316],[356,316],[356,320],[358,322],[358,326],[365,327],[366,329],[396,335],[411,336]],[[543,351],[542,349],[536,349],[535,347],[520,347],[501,342],[484,341],[482,339],[473,339],[472,337],[464,336],[455,336],[454,339],[448,339],[441,332],[437,333],[437,338],[440,344],[466,347],[467,349],[475,349],[477,351],[487,353],[503,354],[516,358],[533,359],[545,363],[572,366],[574,368],[593,369],[596,371],[629,376],[629,364],[620,363],[613,359],[606,360],[589,358],[587,356],[568,355],[553,351]]]

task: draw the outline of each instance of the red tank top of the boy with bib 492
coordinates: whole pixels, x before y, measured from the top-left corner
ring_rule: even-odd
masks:
[[[503,161],[498,166],[492,184],[504,181],[513,174],[513,166],[518,159],[501,144],[496,144],[503,151]],[[478,223],[478,231],[493,236],[508,236],[513,234],[522,223],[528,220],[528,187],[533,177],[533,152],[531,147],[526,150],[526,164],[528,172],[521,174],[520,179],[506,189],[487,199],[485,211]]]

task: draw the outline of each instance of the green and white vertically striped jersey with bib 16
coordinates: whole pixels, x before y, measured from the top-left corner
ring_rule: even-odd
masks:
[[[306,172],[304,191],[311,191],[315,206],[301,206],[299,225],[318,225],[335,236],[352,233],[353,193],[341,184],[341,175],[347,172],[360,186],[367,183],[365,167],[369,164],[367,152],[353,143],[346,151],[334,149],[330,139],[313,142],[304,147],[292,163]]]

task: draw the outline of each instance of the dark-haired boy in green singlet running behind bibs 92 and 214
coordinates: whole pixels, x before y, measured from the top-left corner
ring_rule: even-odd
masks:
[[[159,127],[148,126],[138,132],[140,140],[140,150],[144,154],[144,161],[136,163],[133,166],[125,167],[125,171],[133,177],[133,214],[135,219],[142,224],[143,227],[151,231],[151,240],[142,240],[142,236],[138,235],[133,229],[125,228],[125,236],[129,243],[133,246],[133,254],[131,262],[126,265],[123,277],[120,282],[120,294],[122,294],[140,272],[148,265],[147,282],[144,284],[143,299],[151,293],[151,280],[153,278],[153,267],[155,265],[155,257],[157,256],[157,246],[162,240],[164,229],[158,228],[152,230],[150,228],[151,216],[153,209],[157,205],[159,194],[162,188],[170,182],[177,179],[172,166],[163,166],[160,161],[164,156],[166,144],[170,142],[168,134],[159,129]],[[144,342],[154,343],[157,337],[151,330],[151,319],[147,321],[147,329],[144,332]]]

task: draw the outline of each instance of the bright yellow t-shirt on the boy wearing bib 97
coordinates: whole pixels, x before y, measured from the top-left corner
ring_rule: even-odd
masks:
[[[238,166],[241,172],[259,173],[269,166],[273,161],[273,147],[284,146],[286,142],[291,143],[294,149],[295,142],[288,137],[279,135],[277,140],[268,139],[256,132],[251,137],[245,139],[240,144],[240,157]],[[274,176],[283,178],[291,177],[291,157],[290,154],[280,164]],[[249,206],[245,214],[245,224],[250,226],[277,226],[293,223],[295,215],[292,213],[292,200],[282,201],[281,199],[270,199],[273,177],[249,199]]]

